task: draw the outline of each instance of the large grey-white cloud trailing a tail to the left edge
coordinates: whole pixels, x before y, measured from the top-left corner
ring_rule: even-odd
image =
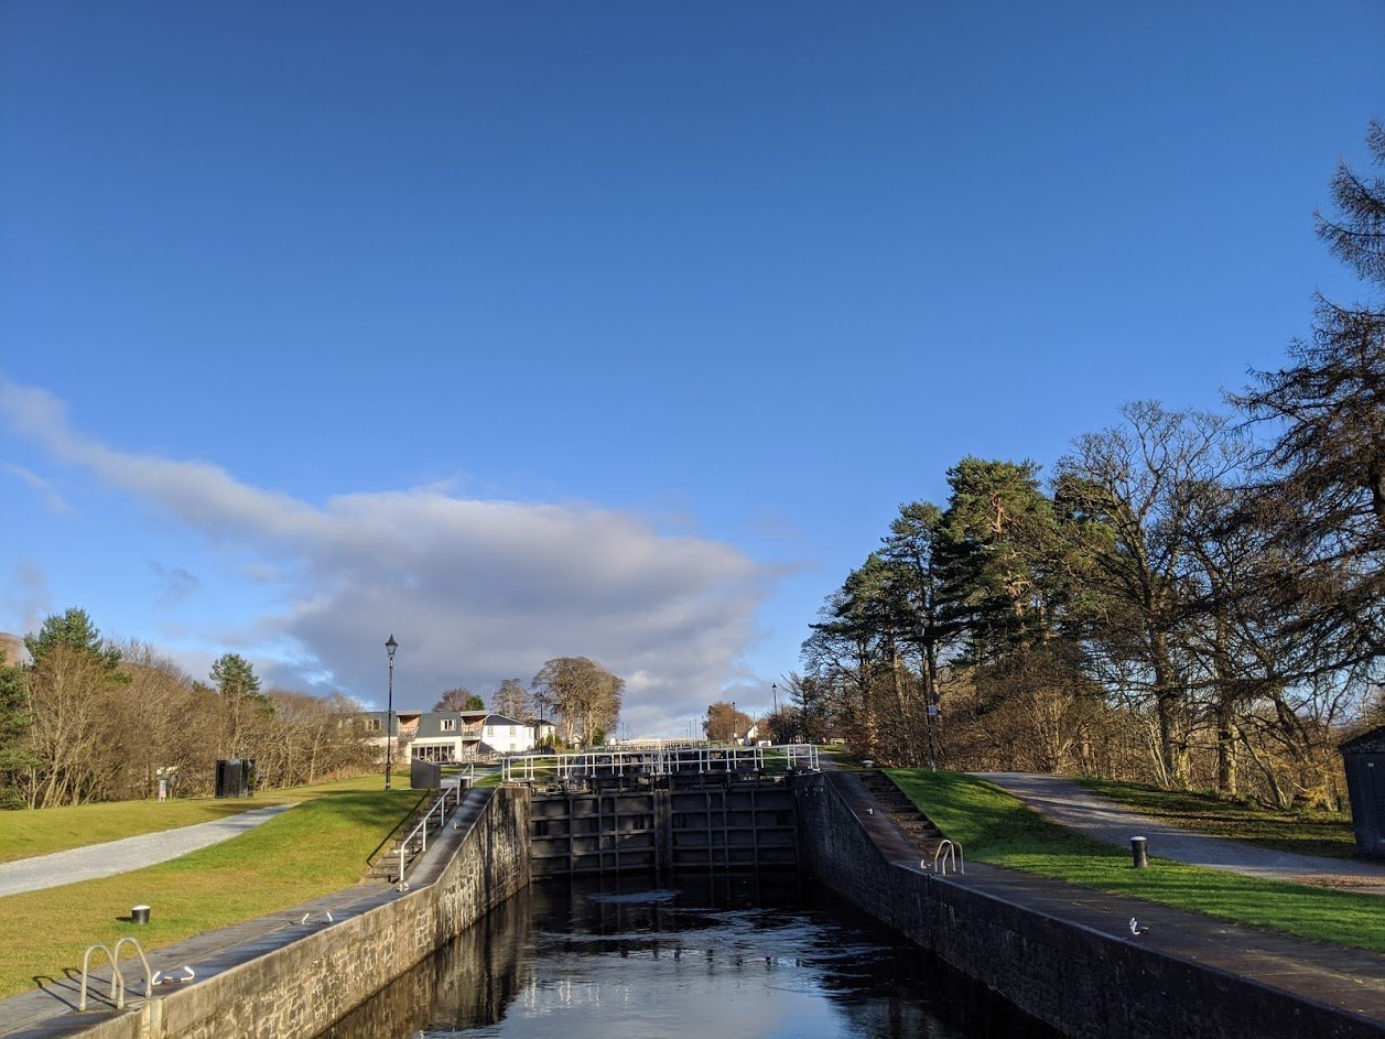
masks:
[[[744,677],[740,659],[773,580],[734,546],[593,506],[432,485],[316,507],[217,465],[97,443],[71,427],[62,402],[3,378],[0,416],[55,459],[234,546],[244,574],[273,580],[288,605],[238,621],[289,646],[266,669],[287,686],[317,682],[382,702],[391,633],[396,707],[431,707],[457,684],[528,682],[550,657],[586,655],[629,680],[632,731],[680,733]],[[159,572],[170,592],[197,580]]]

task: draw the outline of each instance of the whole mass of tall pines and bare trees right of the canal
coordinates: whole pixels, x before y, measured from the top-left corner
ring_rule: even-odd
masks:
[[[1368,145],[1385,168],[1379,123]],[[1249,423],[1126,405],[1051,496],[1035,463],[950,468],[946,510],[904,506],[812,625],[823,731],[892,763],[942,733],[945,767],[1341,806],[1337,744],[1385,719],[1385,179],[1342,165],[1331,191],[1319,236],[1367,301],[1317,298],[1233,398]]]

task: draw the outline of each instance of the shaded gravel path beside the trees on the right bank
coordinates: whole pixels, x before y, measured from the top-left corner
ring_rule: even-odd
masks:
[[[1179,830],[1123,805],[1098,797],[1062,776],[1028,772],[983,772],[981,779],[1004,787],[1030,808],[1055,823],[1087,837],[1123,848],[1132,837],[1150,841],[1150,855],[1213,870],[1245,873],[1252,877],[1289,880],[1299,884],[1349,888],[1385,895],[1385,866],[1352,859],[1324,859],[1256,848],[1242,841],[1202,837]]]

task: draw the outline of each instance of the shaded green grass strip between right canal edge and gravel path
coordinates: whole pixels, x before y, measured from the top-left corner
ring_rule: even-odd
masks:
[[[965,849],[967,859],[1053,877],[1281,931],[1298,938],[1385,952],[1385,899],[1303,884],[1241,877],[1151,858],[1137,870],[1123,848],[1061,826],[993,783],[960,773],[889,773],[924,813]]]

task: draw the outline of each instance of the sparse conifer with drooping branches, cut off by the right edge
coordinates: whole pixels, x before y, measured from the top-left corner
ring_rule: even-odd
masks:
[[[1367,145],[1385,168],[1379,122]],[[1294,363],[1255,373],[1233,400],[1277,424],[1249,521],[1298,562],[1281,575],[1281,598],[1307,604],[1299,633],[1335,644],[1328,665],[1341,666],[1385,652],[1385,179],[1343,162],[1331,190],[1338,213],[1319,215],[1319,237],[1375,298],[1345,306],[1320,294],[1312,338],[1289,346]]]

